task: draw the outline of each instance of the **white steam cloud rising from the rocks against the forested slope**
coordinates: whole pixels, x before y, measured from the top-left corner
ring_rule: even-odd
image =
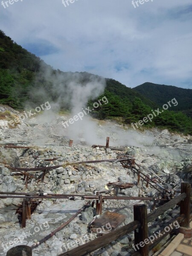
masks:
[[[42,66],[37,81],[38,84],[41,82],[42,86],[39,88],[38,85],[38,87],[34,87],[31,91],[32,100],[28,103],[28,109],[30,109],[30,106],[31,108],[35,108],[35,102],[37,100],[42,103],[49,101],[51,108],[43,111],[35,119],[37,124],[48,123],[50,125],[49,135],[51,135],[51,131],[54,131],[54,133],[60,136],[69,137],[76,143],[83,139],[89,145],[105,145],[106,137],[110,137],[110,145],[116,146],[127,145],[140,147],[153,142],[153,138],[148,135],[141,134],[137,131],[124,130],[115,122],[95,120],[90,116],[90,113],[85,114],[84,112],[82,120],[74,121],[69,126],[64,126],[62,122],[58,123],[58,112],[61,109],[70,107],[70,116],[67,116],[69,120],[82,112],[90,99],[94,100],[98,98],[105,90],[106,80],[104,78],[88,73],[53,72],[50,67]],[[107,100],[103,102],[102,99],[100,100],[100,105],[108,104]],[[53,125],[54,118],[57,118],[55,125]],[[38,133],[38,128],[36,133]],[[42,134],[42,131],[39,134]]]

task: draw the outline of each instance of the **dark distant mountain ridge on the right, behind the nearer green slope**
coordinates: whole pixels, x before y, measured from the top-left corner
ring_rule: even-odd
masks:
[[[175,106],[173,110],[183,111],[183,113],[186,113],[192,118],[192,89],[146,82],[132,88],[132,90],[154,101],[159,107],[162,107],[163,104],[175,98],[178,105]]]

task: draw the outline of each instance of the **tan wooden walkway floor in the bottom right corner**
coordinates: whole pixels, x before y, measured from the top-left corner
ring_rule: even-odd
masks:
[[[192,256],[192,238],[185,239],[184,235],[179,233],[158,256]]]

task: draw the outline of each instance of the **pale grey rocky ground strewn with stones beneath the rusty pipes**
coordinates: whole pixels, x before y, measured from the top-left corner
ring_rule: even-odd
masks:
[[[0,111],[7,108],[1,107]],[[8,108],[9,111],[12,111]],[[12,112],[17,115],[17,112]],[[92,148],[91,144],[73,143],[68,146],[69,137],[59,131],[59,125],[64,117],[58,116],[50,123],[36,122],[35,118],[29,122],[19,124],[10,128],[6,119],[0,120],[1,143],[25,143],[32,146],[29,150],[0,147],[0,191],[1,192],[38,192],[41,188],[44,193],[51,194],[86,194],[93,195],[96,191],[106,188],[108,182],[123,181],[134,183],[132,188],[114,189],[109,195],[128,195],[128,196],[157,196],[157,191],[150,187],[146,188],[145,182],[141,180],[137,186],[137,175],[130,169],[124,169],[119,162],[102,162],[89,164],[70,164],[87,160],[115,159],[118,151],[104,148]],[[106,129],[103,125],[98,125],[98,134],[103,137],[110,137],[113,145],[125,145],[125,154],[135,158],[136,163],[140,164],[140,171],[145,174],[146,169],[155,172],[162,177],[160,184],[166,189],[179,189],[182,180],[192,183],[192,144],[187,143],[189,137],[171,134],[167,130],[160,131],[153,129],[150,131],[135,132],[122,129],[116,126],[118,132]],[[121,133],[119,135],[119,131]],[[122,137],[118,138],[118,136]],[[131,135],[130,135],[131,134]],[[127,138],[127,140],[126,140]],[[124,142],[123,142],[124,141]],[[93,142],[95,144],[95,141]],[[103,142],[105,145],[105,141]],[[37,158],[36,158],[37,157]],[[57,158],[53,161],[46,159]],[[12,167],[47,167],[63,165],[54,170],[50,170],[44,182],[37,183],[35,179],[30,179],[27,189],[25,181],[20,176],[12,176],[12,171],[5,167],[8,164]],[[149,173],[149,172],[148,172]],[[39,177],[42,173],[33,173]],[[149,173],[154,177],[153,174]],[[18,244],[31,246],[38,240],[47,236],[62,223],[67,221],[80,209],[87,201],[70,201],[67,199],[47,199],[38,205],[32,214],[32,219],[26,223],[26,228],[21,229],[15,210],[21,199],[5,198],[0,199],[0,255],[6,255],[6,251]],[[129,200],[109,200],[103,204],[103,212],[106,210],[117,210],[118,213],[126,216],[122,225],[133,221],[133,204],[137,201]],[[151,203],[141,201],[148,205],[148,212],[151,211]],[[150,232],[159,227],[165,227],[170,218],[174,217],[179,211],[177,208],[169,209],[164,215],[150,223]],[[33,250],[33,256],[57,256],[66,250],[73,249],[77,244],[83,244],[96,237],[90,234],[88,225],[95,216],[95,208],[89,206],[84,212],[76,217],[67,227],[56,233],[51,239],[41,244]],[[24,232],[24,233],[23,233]],[[27,235],[28,234],[28,235]],[[87,235],[87,236],[86,236]],[[24,239],[22,239],[22,236]],[[20,237],[21,241],[17,241]],[[85,239],[81,239],[84,238]],[[107,247],[97,250],[90,255],[101,256],[128,256],[134,252],[132,248],[133,234],[122,237],[114,241]],[[78,239],[81,239],[79,241]],[[9,242],[11,241],[11,245]],[[13,242],[12,242],[13,241]],[[14,242],[15,241],[15,242]],[[17,243],[16,243],[17,241]],[[72,241],[79,241],[71,246]]]

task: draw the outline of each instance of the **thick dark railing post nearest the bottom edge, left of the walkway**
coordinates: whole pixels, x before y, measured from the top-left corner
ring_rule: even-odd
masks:
[[[148,256],[148,221],[147,221],[147,206],[145,204],[134,205],[134,221],[139,221],[141,227],[134,231],[135,235],[135,250],[142,256]]]

